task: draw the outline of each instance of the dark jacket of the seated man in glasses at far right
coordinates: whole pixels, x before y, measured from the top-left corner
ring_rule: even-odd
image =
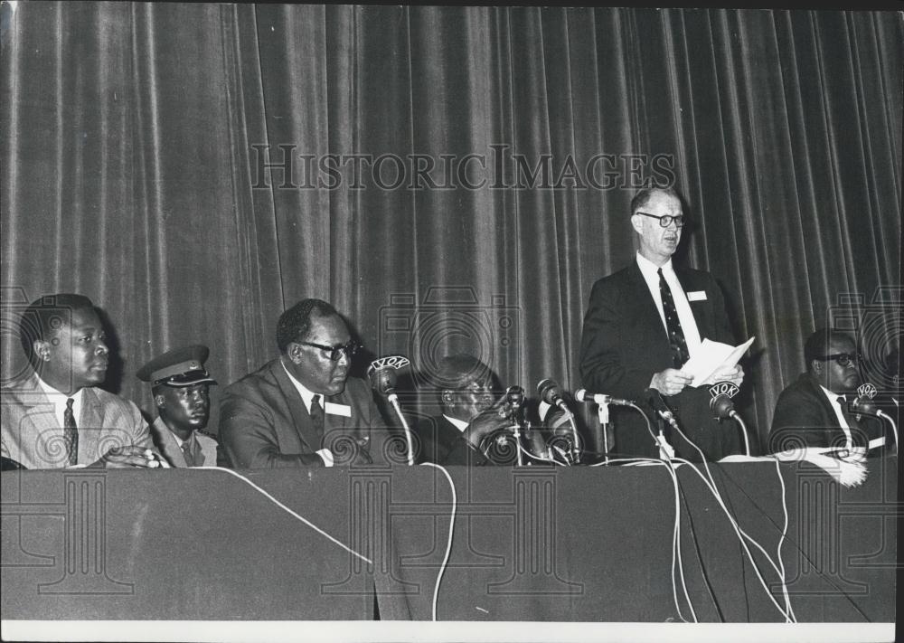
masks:
[[[884,422],[878,418],[862,416],[857,421],[848,415],[847,420],[854,446],[868,447],[870,440],[885,436],[885,447],[869,449],[867,455],[881,455],[891,448],[893,438],[885,435]],[[813,375],[801,374],[778,396],[769,430],[769,453],[802,446],[843,447],[844,444],[844,431],[832,403]]]

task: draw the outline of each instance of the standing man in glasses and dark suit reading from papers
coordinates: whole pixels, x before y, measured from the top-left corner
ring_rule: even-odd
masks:
[[[689,386],[692,376],[681,367],[705,338],[734,342],[715,279],[701,270],[673,268],[672,255],[681,241],[683,224],[681,199],[672,188],[645,188],[631,201],[636,260],[593,285],[581,336],[580,374],[588,390],[634,400],[651,416],[645,391],[661,392],[676,411],[685,435],[706,459],[714,460],[739,452],[739,429],[733,423],[712,420],[709,392],[706,387]],[[717,380],[736,385],[743,377],[739,366],[721,368],[715,374]],[[612,452],[658,457],[645,421],[636,411],[613,408],[611,417],[615,425]],[[666,437],[677,455],[700,459],[679,435]]]

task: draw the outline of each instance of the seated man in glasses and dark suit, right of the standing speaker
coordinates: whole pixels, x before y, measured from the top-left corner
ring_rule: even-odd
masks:
[[[804,345],[806,373],[778,396],[769,431],[769,452],[799,447],[861,449],[868,456],[885,448],[883,422],[848,409],[861,383],[860,356],[850,336],[821,328]]]

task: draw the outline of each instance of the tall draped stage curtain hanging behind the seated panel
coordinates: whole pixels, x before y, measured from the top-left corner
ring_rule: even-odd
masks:
[[[899,13],[5,11],[5,377],[16,307],[77,291],[115,331],[108,387],[146,411],[146,359],[201,342],[231,383],[305,297],[372,354],[428,371],[468,349],[506,384],[574,390],[590,287],[633,260],[650,180],[686,199],[680,259],[757,336],[761,435],[805,336],[899,292]]]

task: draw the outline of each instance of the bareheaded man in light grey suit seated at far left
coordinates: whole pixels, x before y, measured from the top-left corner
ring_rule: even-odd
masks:
[[[162,466],[138,407],[98,388],[109,350],[89,298],[34,301],[19,336],[31,368],[0,395],[5,461],[24,468]]]

